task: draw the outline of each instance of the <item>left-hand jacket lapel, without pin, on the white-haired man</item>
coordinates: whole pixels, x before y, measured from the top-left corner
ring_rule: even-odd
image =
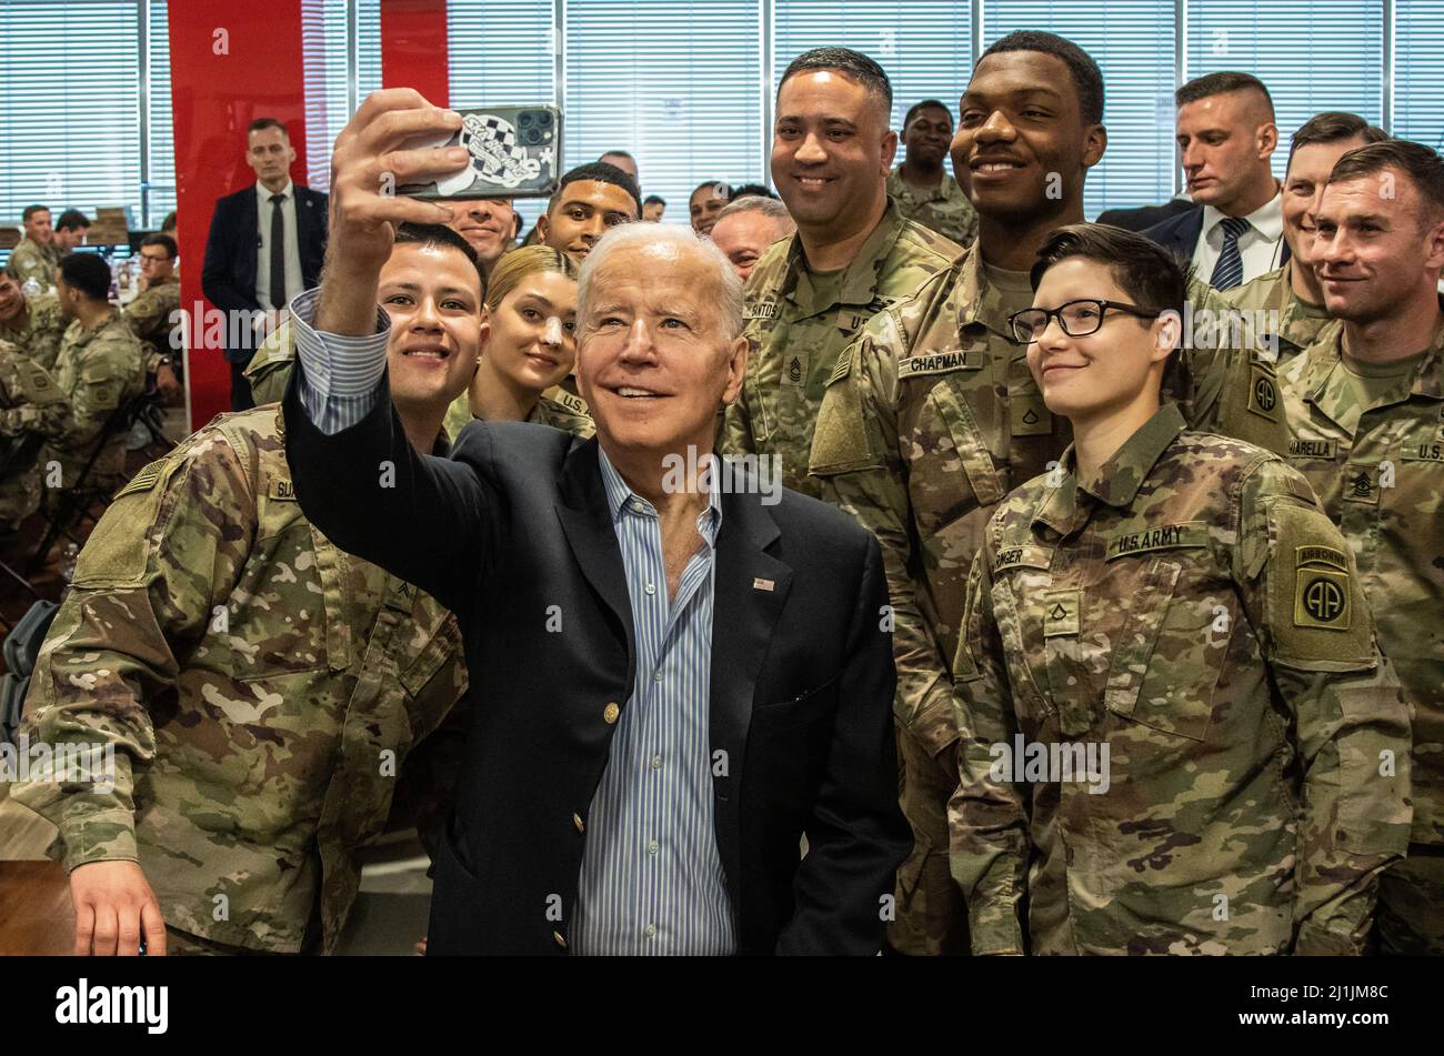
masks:
[[[596,462],[596,440],[573,447],[562,466],[560,493],[556,515],[566,532],[582,574],[617,617],[627,642],[627,692],[631,695],[637,668],[635,629],[631,597],[627,594],[622,553],[617,545],[617,531],[606,505],[602,470]]]

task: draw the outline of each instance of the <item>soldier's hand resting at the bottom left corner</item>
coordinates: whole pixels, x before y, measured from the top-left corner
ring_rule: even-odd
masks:
[[[160,903],[134,861],[91,861],[71,870],[75,954],[136,956],[144,935],[147,956],[165,956]]]

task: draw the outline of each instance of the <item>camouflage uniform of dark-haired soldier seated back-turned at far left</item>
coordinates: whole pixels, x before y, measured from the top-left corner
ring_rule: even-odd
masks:
[[[78,319],[71,323],[52,374],[65,395],[69,418],[40,459],[59,462],[62,486],[74,488],[111,414],[144,390],[146,364],[136,335],[113,312],[94,330],[87,330]],[[117,488],[124,473],[126,433],[118,431],[105,440],[87,483]]]

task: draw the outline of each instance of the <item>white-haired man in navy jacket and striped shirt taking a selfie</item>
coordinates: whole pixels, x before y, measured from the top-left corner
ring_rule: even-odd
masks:
[[[429,952],[877,952],[910,845],[881,551],[780,467],[712,462],[748,351],[726,257],[657,224],[588,255],[595,440],[478,423],[449,459],[407,443],[377,276],[393,224],[449,211],[378,176],[461,167],[401,150],[459,123],[393,89],[336,140],[332,263],[292,303],[284,401],[306,515],[464,628],[477,708]],[[404,351],[439,352],[425,330]]]

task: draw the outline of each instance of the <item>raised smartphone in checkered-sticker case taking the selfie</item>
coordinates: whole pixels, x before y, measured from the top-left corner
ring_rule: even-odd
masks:
[[[430,183],[403,183],[407,198],[546,198],[562,172],[562,113],[556,107],[455,108],[462,127],[409,144],[465,147],[471,164]]]

